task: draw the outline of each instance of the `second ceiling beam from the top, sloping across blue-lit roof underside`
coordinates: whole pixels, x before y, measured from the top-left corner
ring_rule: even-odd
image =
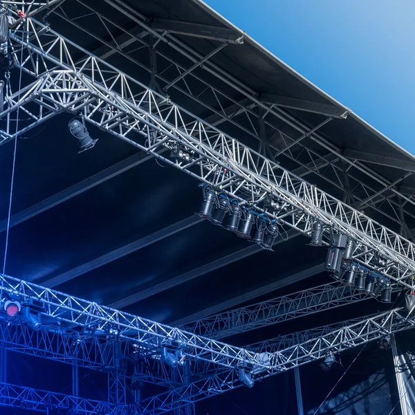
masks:
[[[101,255],[98,258],[92,259],[86,264],[82,264],[77,266],[71,270],[66,271],[65,273],[56,275],[55,277],[49,278],[46,281],[42,282],[42,284],[48,288],[53,288],[64,282],[70,281],[73,278],[79,277],[82,274],[89,273],[100,266],[104,266],[105,264],[109,264],[109,262],[116,261],[116,259],[120,259],[125,255],[129,255],[132,252],[136,252],[146,246],[151,245],[152,243],[156,243],[161,241],[162,239],[171,237],[172,235],[181,232],[187,228],[190,228],[197,223],[200,223],[203,219],[200,219],[197,216],[189,216],[182,221],[178,221],[173,223],[172,225],[166,226],[166,228],[157,230],[156,232],[149,234],[145,237],[137,239],[136,241],[127,243],[127,245],[121,246],[116,250],[112,250],[111,252],[107,252],[104,255]]]

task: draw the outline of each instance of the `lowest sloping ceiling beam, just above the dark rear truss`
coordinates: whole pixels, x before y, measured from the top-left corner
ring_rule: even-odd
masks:
[[[214,306],[205,308],[204,310],[198,311],[197,313],[194,313],[192,315],[187,315],[186,317],[171,322],[170,324],[172,324],[172,326],[179,326],[181,324],[187,324],[189,322],[209,317],[210,315],[219,313],[220,311],[226,310],[227,308],[232,308],[243,302],[248,302],[257,297],[261,297],[261,295],[266,295],[272,291],[278,290],[279,288],[283,288],[285,286],[302,281],[303,279],[313,277],[314,275],[320,274],[323,271],[324,264],[319,264],[316,266],[312,266],[311,268],[306,268],[305,270],[302,270],[299,273],[290,275],[286,278],[278,279],[277,281],[272,282],[270,284],[266,284],[265,286],[255,288],[252,291],[248,291],[247,293],[243,293],[242,295],[238,295],[237,297],[228,299],[225,302],[215,304]]]

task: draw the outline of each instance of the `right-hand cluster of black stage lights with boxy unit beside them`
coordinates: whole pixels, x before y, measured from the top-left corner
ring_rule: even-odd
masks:
[[[313,223],[311,246],[324,246],[324,226],[321,222]],[[329,251],[327,252],[325,269],[334,279],[345,286],[356,288],[371,297],[378,298],[382,303],[391,302],[391,283],[389,279],[376,275],[366,268],[353,262],[353,251],[356,242],[344,234],[330,231]],[[378,266],[386,265],[384,259],[377,258]]]

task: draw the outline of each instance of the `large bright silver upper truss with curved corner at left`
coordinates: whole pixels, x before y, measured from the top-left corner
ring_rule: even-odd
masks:
[[[19,66],[36,80],[8,96],[7,108],[0,113],[8,120],[1,132],[3,142],[62,111],[82,111],[95,126],[257,212],[262,212],[259,204],[264,197],[272,196],[282,211],[267,212],[264,218],[275,218],[304,234],[318,219],[349,235],[358,242],[356,261],[405,287],[414,285],[414,243],[225,136],[34,19],[26,19],[26,30],[10,34],[10,44]],[[15,129],[10,119],[18,108],[33,120],[21,129]],[[177,146],[192,154],[190,163],[176,163],[156,152]],[[387,259],[384,266],[378,265],[378,255]]]

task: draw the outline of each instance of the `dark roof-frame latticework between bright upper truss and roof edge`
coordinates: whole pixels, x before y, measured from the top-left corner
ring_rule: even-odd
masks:
[[[136,28],[127,30],[127,28],[114,21],[113,15],[109,13],[106,15],[102,10],[95,9],[80,0],[77,0],[77,3],[82,4],[82,7],[60,7],[55,10],[55,14],[75,26],[77,30],[82,30],[89,37],[93,37],[100,42],[102,47],[96,50],[96,54],[103,59],[117,54],[122,59],[126,59],[132,68],[144,69],[150,73],[151,85],[157,84],[159,90],[161,89],[160,85],[165,89],[165,86],[169,86],[180,77],[181,82],[176,82],[171,89],[190,98],[192,102],[197,103],[198,106],[212,114],[212,116],[208,116],[208,120],[212,125],[217,126],[223,122],[232,124],[244,135],[259,140],[259,149],[264,154],[268,154],[271,158],[285,157],[288,160],[294,160],[300,166],[298,170],[302,171],[302,176],[310,173],[316,174],[326,183],[334,185],[340,192],[344,193],[344,201],[348,201],[350,195],[353,196],[353,207],[358,206],[362,209],[368,205],[371,209],[397,223],[397,225],[401,223],[400,210],[403,210],[405,215],[414,217],[413,213],[403,209],[406,203],[415,204],[412,197],[405,196],[405,194],[413,195],[413,189],[409,190],[409,193],[403,194],[403,187],[396,187],[397,183],[389,183],[380,174],[368,167],[367,163],[361,163],[360,160],[367,161],[367,158],[362,158],[361,151],[354,151],[351,154],[349,154],[349,150],[344,152],[342,148],[336,147],[317,132],[324,123],[333,117],[345,117],[349,109],[338,103],[331,105],[329,106],[331,107],[330,111],[324,109],[321,112],[330,117],[326,118],[317,127],[310,128],[295,119],[290,113],[287,113],[284,108],[320,113],[319,104],[308,102],[308,105],[313,104],[313,108],[307,108],[307,106],[304,107],[304,102],[300,105],[287,104],[288,98],[278,97],[277,95],[262,94],[258,97],[257,91],[253,91],[233,75],[223,71],[222,68],[207,59],[198,50],[194,50],[176,37],[176,33],[193,35],[187,30],[189,24],[169,21],[168,24],[165,22],[164,24],[155,25],[156,22],[153,19],[140,14],[122,0],[105,1],[113,7],[115,15],[124,15],[131,24],[136,24]],[[84,17],[88,18],[85,19]],[[94,17],[97,30],[94,30],[89,24],[91,18]],[[178,26],[181,26],[179,31]],[[114,38],[111,30],[118,30],[122,35]],[[216,30],[219,29],[216,28]],[[223,30],[226,31],[226,29]],[[212,33],[212,28],[204,31],[205,34],[208,32]],[[102,38],[102,33],[108,33],[108,39],[112,40],[107,41]],[[206,37],[202,33],[198,33],[198,35]],[[237,29],[234,29],[232,35],[234,41],[237,39],[243,40],[243,37],[246,37],[244,33]],[[214,39],[219,42],[223,41],[220,34]],[[231,37],[227,39],[228,42],[232,42]],[[139,46],[131,50],[129,45],[133,42]],[[163,45],[163,47],[159,48],[158,45]],[[165,45],[168,50],[166,50]],[[150,64],[142,62],[142,59],[137,57],[136,52],[142,49],[151,53]],[[178,53],[185,59],[177,59],[176,55]],[[186,60],[190,66],[183,64]],[[216,82],[210,82],[210,76],[204,77],[201,71],[195,71],[196,68],[201,67],[202,62],[203,70],[213,75]],[[291,71],[290,68],[287,69]],[[133,74],[133,71],[131,73]],[[218,84],[221,86],[218,86]],[[236,96],[239,98],[236,98]],[[299,100],[291,101],[299,102]],[[281,121],[293,132],[282,131]],[[293,133],[296,132],[301,136],[293,136]],[[317,143],[319,146],[317,150],[310,149],[304,144],[304,138],[306,137]],[[382,158],[374,161],[374,158],[376,156],[371,155],[369,162],[408,168],[409,172],[414,170],[414,163],[407,163],[410,166],[405,167],[400,160],[385,160],[385,158]],[[359,177],[360,173],[364,173],[370,178],[370,182],[378,183],[380,190],[374,189],[366,181],[362,181]],[[350,202],[348,201],[348,203]],[[389,213],[390,210],[391,214]]]

